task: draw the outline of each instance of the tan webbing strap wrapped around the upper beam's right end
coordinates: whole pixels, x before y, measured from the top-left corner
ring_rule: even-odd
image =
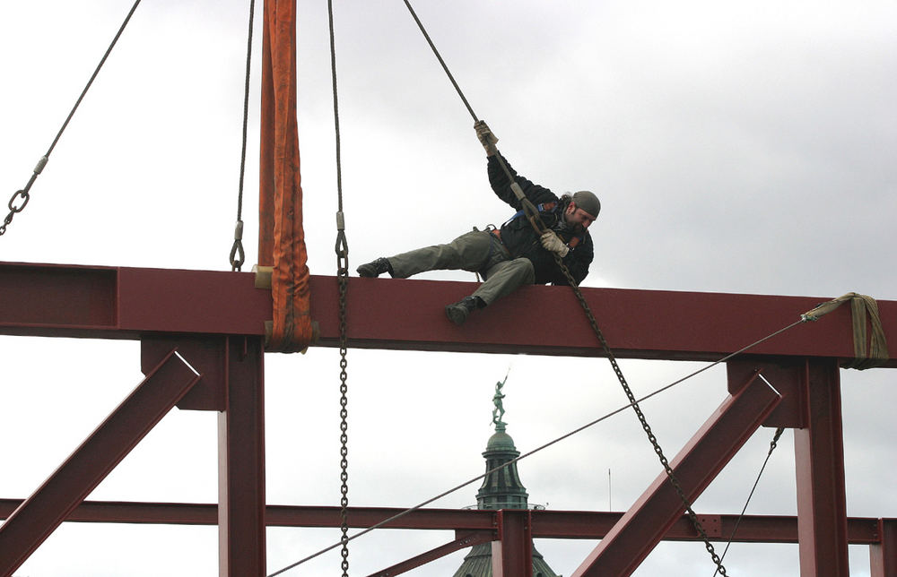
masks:
[[[888,357],[888,344],[884,337],[884,327],[881,315],[878,314],[878,304],[875,302],[875,298],[849,292],[806,311],[800,315],[800,320],[803,323],[815,323],[820,317],[831,313],[848,301],[850,301],[850,313],[853,320],[853,359],[845,362],[842,366],[864,370],[884,365],[890,357]],[[867,317],[871,327],[867,326]]]

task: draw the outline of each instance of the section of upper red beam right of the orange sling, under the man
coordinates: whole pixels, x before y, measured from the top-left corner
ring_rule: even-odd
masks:
[[[350,346],[600,357],[597,340],[567,287],[524,287],[464,326],[448,323],[443,307],[469,294],[473,283],[352,279]],[[632,358],[718,360],[799,319],[826,300],[721,293],[583,288],[614,355]],[[336,346],[335,280],[312,277],[312,317],[318,344]],[[414,306],[409,306],[414,303]],[[897,302],[879,301],[891,350],[897,352]],[[536,315],[540,331],[520,331]],[[852,357],[848,307],[805,323],[751,350],[753,355]],[[897,366],[890,361],[887,366]]]

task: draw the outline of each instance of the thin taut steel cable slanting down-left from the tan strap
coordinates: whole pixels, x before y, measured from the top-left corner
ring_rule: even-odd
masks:
[[[689,373],[688,375],[685,375],[685,376],[683,376],[683,377],[681,377],[681,378],[679,378],[679,379],[673,381],[672,383],[668,383],[668,384],[664,385],[663,387],[657,389],[656,391],[649,392],[649,394],[644,395],[643,397],[640,397],[639,399],[632,400],[629,404],[623,405],[622,407],[618,407],[617,409],[614,409],[614,410],[612,410],[611,412],[606,413],[606,414],[603,415],[602,417],[596,418],[595,420],[592,420],[592,421],[586,423],[585,425],[579,426],[579,427],[577,427],[577,428],[571,430],[570,432],[565,433],[564,435],[561,435],[561,436],[559,436],[559,437],[554,438],[554,439],[551,440],[551,441],[548,441],[548,442],[545,443],[545,444],[541,444],[541,445],[539,445],[538,447],[536,447],[535,449],[533,449],[533,450],[531,450],[531,451],[528,451],[528,452],[525,452],[525,453],[521,454],[520,456],[518,456],[518,457],[516,457],[516,458],[514,458],[514,459],[511,459],[510,461],[508,461],[508,462],[502,464],[502,465],[499,466],[499,467],[495,467],[495,468],[493,468],[493,469],[489,469],[489,470],[487,470],[485,473],[483,473],[482,475],[479,475],[479,476],[477,476],[477,477],[475,477],[475,478],[469,479],[469,480],[465,481],[464,483],[461,483],[460,485],[457,485],[457,486],[455,486],[455,487],[452,487],[452,488],[448,489],[447,491],[444,491],[444,492],[440,493],[439,495],[433,496],[433,497],[427,499],[426,501],[423,501],[423,502],[420,503],[420,504],[416,504],[416,505],[414,505],[413,507],[409,507],[408,509],[405,509],[405,511],[398,512],[398,513],[396,513],[395,515],[393,515],[392,517],[389,517],[388,519],[385,519],[385,520],[383,520],[383,521],[379,521],[379,523],[376,523],[376,524],[374,524],[374,525],[371,525],[370,527],[367,527],[367,528],[365,528],[365,529],[363,529],[363,530],[361,530],[361,531],[355,533],[354,535],[352,535],[351,537],[346,538],[345,540],[346,540],[346,541],[352,541],[352,540],[354,540],[354,539],[356,539],[356,538],[359,538],[359,537],[361,537],[361,536],[363,536],[363,535],[366,535],[367,533],[370,533],[370,531],[380,529],[381,527],[387,525],[388,523],[391,523],[391,522],[393,522],[393,521],[397,521],[397,520],[401,519],[402,517],[405,517],[405,515],[410,514],[410,513],[412,513],[412,512],[415,512],[415,511],[417,511],[417,510],[419,510],[419,509],[422,509],[422,507],[425,507],[425,506],[428,505],[428,504],[431,504],[431,503],[433,503],[433,502],[435,502],[435,501],[438,501],[438,500],[440,500],[440,499],[441,499],[442,497],[444,497],[444,496],[451,495],[452,493],[455,493],[456,491],[458,491],[458,490],[460,490],[460,489],[462,489],[462,488],[464,488],[464,487],[467,487],[468,485],[471,485],[472,483],[475,483],[476,481],[478,481],[478,480],[480,480],[480,479],[482,479],[482,478],[488,477],[489,475],[491,475],[492,473],[494,473],[494,472],[496,472],[496,471],[499,471],[499,470],[501,470],[501,469],[504,469],[504,468],[506,468],[506,467],[509,467],[510,465],[512,465],[512,464],[514,464],[514,463],[516,463],[516,462],[518,462],[518,461],[522,461],[522,460],[526,459],[527,457],[530,457],[530,456],[536,454],[537,452],[541,452],[541,451],[543,451],[544,449],[547,449],[548,447],[553,446],[554,444],[558,444],[558,443],[560,443],[561,441],[563,441],[563,440],[565,440],[565,439],[567,439],[567,438],[570,438],[570,437],[573,436],[573,435],[577,435],[577,434],[581,433],[582,431],[585,431],[586,429],[588,429],[588,428],[591,427],[591,426],[595,426],[595,425],[597,425],[598,423],[600,423],[600,422],[602,422],[602,421],[605,421],[605,420],[608,419],[608,418],[614,417],[614,415],[617,415],[617,414],[623,412],[623,411],[626,410],[626,409],[630,409],[631,407],[635,406],[635,405],[638,404],[638,403],[644,402],[645,400],[649,400],[649,399],[651,399],[652,397],[657,396],[657,395],[660,394],[661,392],[666,392],[666,391],[672,389],[673,387],[675,387],[677,384],[684,383],[685,381],[688,381],[688,380],[691,379],[692,377],[697,376],[697,375],[700,375],[700,374],[703,373],[704,371],[710,370],[710,369],[713,368],[714,366],[718,366],[718,365],[721,364],[721,363],[725,363],[727,360],[731,359],[732,357],[736,357],[737,355],[740,355],[740,354],[744,353],[744,352],[747,351],[747,350],[753,349],[753,347],[756,347],[756,346],[762,344],[763,342],[765,342],[765,341],[767,341],[767,340],[770,340],[770,339],[772,339],[772,338],[778,336],[778,335],[781,334],[782,332],[786,332],[786,331],[788,331],[789,329],[792,329],[792,328],[794,328],[795,326],[797,326],[798,324],[801,324],[801,323],[806,323],[806,321],[805,321],[805,320],[798,320],[798,321],[795,322],[795,323],[791,323],[791,324],[788,324],[788,326],[782,327],[781,329],[779,329],[779,330],[776,331],[776,332],[771,332],[770,334],[768,334],[767,336],[763,337],[762,339],[760,339],[760,340],[756,340],[756,341],[754,341],[753,343],[751,343],[751,344],[749,344],[749,345],[747,345],[747,346],[745,346],[745,347],[742,347],[741,349],[738,349],[738,350],[736,350],[736,351],[733,352],[733,353],[729,353],[729,354],[726,355],[725,357],[721,357],[721,358],[719,358],[718,360],[713,361],[712,363],[710,363],[710,364],[707,365],[707,366],[702,366],[700,369],[698,369],[698,370],[696,370],[696,371],[693,371],[692,373]],[[312,555],[308,555],[308,556],[306,556],[306,557],[303,557],[302,559],[300,559],[299,561],[297,561],[297,562],[295,562],[295,563],[293,563],[293,564],[289,564],[289,565],[283,567],[282,569],[279,569],[278,571],[276,571],[276,572],[274,572],[274,573],[270,573],[267,577],[275,577],[276,575],[280,575],[280,574],[282,574],[282,573],[285,573],[285,572],[289,571],[290,569],[293,569],[293,568],[295,568],[295,567],[298,567],[300,564],[307,563],[307,562],[311,561],[312,559],[314,559],[314,558],[316,558],[316,557],[318,557],[318,556],[320,556],[320,555],[324,555],[325,553],[327,553],[327,551],[331,551],[331,550],[335,549],[336,547],[340,547],[343,543],[344,543],[344,540],[341,539],[339,542],[334,543],[333,545],[330,545],[330,546],[328,546],[328,547],[325,547],[325,548],[323,548],[323,549],[320,549],[319,551],[317,551],[316,553],[313,553]]]

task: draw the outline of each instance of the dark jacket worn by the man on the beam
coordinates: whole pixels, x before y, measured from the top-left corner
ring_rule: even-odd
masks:
[[[501,158],[504,159],[504,157]],[[492,190],[495,191],[495,194],[502,201],[508,202],[515,211],[520,211],[522,206],[517,196],[511,191],[510,181],[504,170],[502,170],[498,158],[491,156],[488,159],[487,169]],[[507,160],[505,160],[505,164],[530,202],[536,206],[544,202],[557,202],[553,211],[541,213],[542,221],[546,228],[551,228],[558,233],[565,243],[570,243],[574,233],[572,230],[565,228],[563,222],[563,211],[566,210],[570,199],[567,198],[562,202],[556,194],[544,186],[535,185],[527,178],[519,176],[517,171],[511,168]],[[524,256],[533,263],[533,268],[536,270],[536,284],[549,282],[555,285],[568,284],[567,278],[558,268],[557,263],[554,262],[554,255],[542,247],[536,231],[525,216],[521,215],[501,225],[501,242],[504,243],[514,258]],[[563,257],[563,263],[567,265],[570,275],[576,280],[576,284],[579,285],[586,278],[588,265],[592,263],[593,254],[592,237],[589,236],[587,230],[583,233],[579,244],[575,248],[571,248],[567,256]]]

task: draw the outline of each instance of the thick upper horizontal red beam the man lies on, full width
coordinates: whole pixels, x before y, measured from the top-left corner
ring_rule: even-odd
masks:
[[[261,335],[272,319],[269,290],[251,272],[178,271],[0,263],[0,334],[138,339],[152,333]],[[457,327],[443,307],[475,283],[349,280],[349,345],[600,357],[567,287],[524,287]],[[830,297],[583,288],[618,357],[713,361],[788,324]],[[339,341],[335,277],[311,277],[317,344]],[[897,302],[878,302],[897,357]],[[526,322],[521,322],[525,319]],[[520,327],[539,326],[538,331]],[[767,340],[750,354],[853,357],[849,306]],[[891,360],[886,366],[897,366]]]

